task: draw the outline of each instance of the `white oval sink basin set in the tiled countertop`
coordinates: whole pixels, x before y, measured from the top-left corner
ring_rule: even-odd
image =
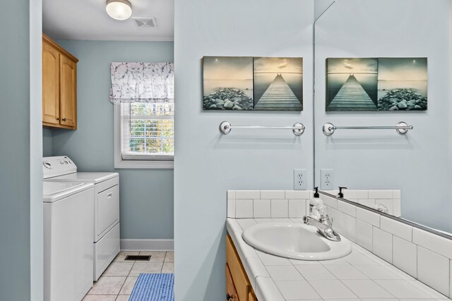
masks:
[[[242,238],[257,250],[291,259],[328,260],[352,252],[347,238],[327,240],[304,223],[256,223],[243,231]]]

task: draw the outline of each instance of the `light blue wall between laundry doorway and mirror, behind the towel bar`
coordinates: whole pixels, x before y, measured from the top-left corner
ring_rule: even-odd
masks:
[[[228,189],[292,189],[293,168],[313,169],[311,0],[176,0],[175,297],[224,300]],[[203,56],[304,57],[303,112],[204,112]],[[307,125],[302,137],[241,125]],[[313,179],[308,179],[312,187]]]

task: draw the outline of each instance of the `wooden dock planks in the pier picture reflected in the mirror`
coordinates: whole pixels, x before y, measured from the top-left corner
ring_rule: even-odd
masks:
[[[328,111],[376,111],[376,104],[372,102],[355,75],[350,75],[328,104]]]

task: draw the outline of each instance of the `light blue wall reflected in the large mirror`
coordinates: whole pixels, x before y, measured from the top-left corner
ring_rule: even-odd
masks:
[[[422,20],[422,22],[420,21]],[[325,112],[328,57],[427,57],[428,110]],[[341,0],[316,23],[316,175],[333,168],[335,186],[400,189],[405,219],[452,233],[451,4],[448,0]],[[414,126],[338,130],[334,125]],[[346,194],[345,194],[346,197]]]

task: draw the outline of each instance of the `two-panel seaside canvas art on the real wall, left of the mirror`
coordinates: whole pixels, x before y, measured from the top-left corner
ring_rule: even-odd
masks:
[[[203,57],[203,110],[302,109],[302,58]]]

